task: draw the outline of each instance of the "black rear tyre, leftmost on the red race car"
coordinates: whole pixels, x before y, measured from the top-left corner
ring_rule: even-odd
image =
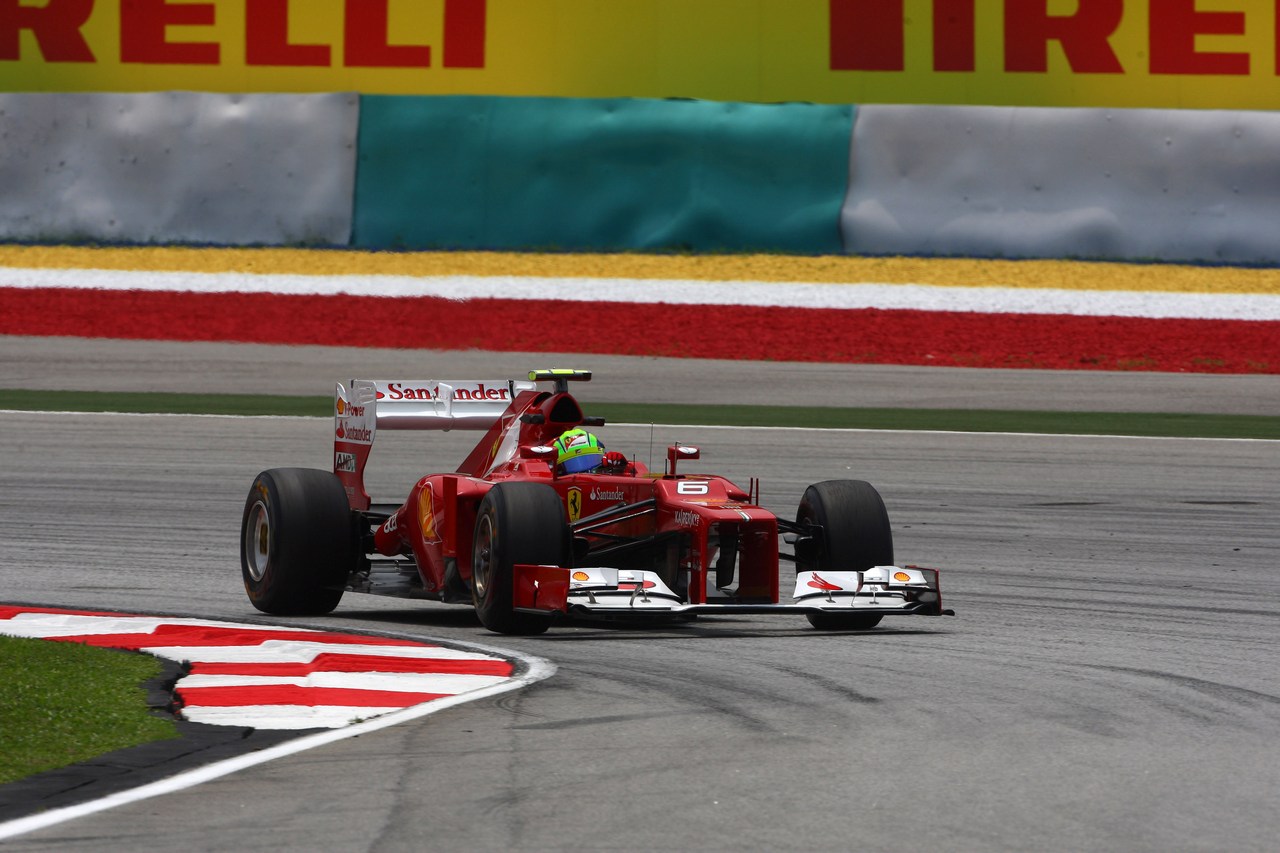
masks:
[[[351,507],[337,476],[308,467],[257,475],[241,516],[241,574],[256,608],[276,616],[333,611],[357,557]]]

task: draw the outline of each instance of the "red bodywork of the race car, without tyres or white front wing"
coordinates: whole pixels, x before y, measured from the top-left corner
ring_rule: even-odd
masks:
[[[485,405],[509,402],[497,416],[485,418],[488,430],[456,473],[420,479],[404,503],[390,510],[374,529],[370,552],[387,558],[412,557],[422,597],[461,597],[471,580],[472,532],[481,500],[497,483],[526,480],[550,485],[563,501],[576,540],[575,566],[655,571],[671,588],[678,588],[690,605],[707,603],[708,589],[727,587],[730,578],[736,584],[736,602],[778,602],[778,523],[772,512],[754,503],[754,482],[751,491],[744,491],[722,476],[677,473],[680,460],[698,457],[696,448],[687,447],[668,448],[662,473],[652,473],[643,462],[630,460],[616,473],[557,475],[552,442],[567,429],[584,425],[590,429],[593,424],[563,386],[547,392],[520,389],[511,383],[508,393],[508,388],[497,383],[479,383],[462,389],[471,394],[462,402],[456,397],[458,389],[443,383],[440,387],[447,388],[443,393],[454,394],[454,410],[476,396],[485,398]],[[385,406],[383,401],[392,402],[390,394],[403,392],[403,383],[380,384],[379,405]],[[447,402],[440,402],[440,393],[435,391],[435,409],[448,409]],[[370,512],[364,467],[374,424],[352,423],[353,416],[346,416],[344,410],[357,412],[355,416],[365,414],[364,407],[346,398],[339,386],[334,473],[346,487],[351,507]],[[376,421],[381,428],[393,423],[390,415],[385,418],[388,423],[379,411]],[[465,412],[453,411],[449,426],[440,426],[431,424],[431,418],[443,415],[421,415],[412,426],[398,428],[456,429],[466,419]],[[479,428],[480,423],[481,416],[476,415],[463,428]],[[351,441],[352,437],[360,441]],[[595,516],[600,517],[593,520]],[[627,543],[627,548],[621,551],[618,542]],[[721,556],[726,552],[732,553],[727,561]],[[566,610],[570,571],[520,567],[515,606]]]

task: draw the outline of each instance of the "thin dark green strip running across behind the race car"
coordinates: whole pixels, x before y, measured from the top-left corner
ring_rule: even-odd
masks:
[[[1280,439],[1280,418],[1262,415],[675,403],[586,403],[585,407],[588,414],[600,415],[611,423]],[[333,400],[256,394],[0,389],[0,409],[328,418],[333,414]]]

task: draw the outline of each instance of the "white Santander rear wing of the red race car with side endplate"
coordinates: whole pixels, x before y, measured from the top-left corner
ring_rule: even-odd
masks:
[[[379,429],[477,429],[494,421],[532,382],[517,379],[352,379],[334,391],[333,473],[347,500],[369,508],[365,464]]]

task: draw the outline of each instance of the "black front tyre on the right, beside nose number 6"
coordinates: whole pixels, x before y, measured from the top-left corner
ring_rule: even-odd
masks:
[[[893,565],[893,530],[879,492],[864,480],[814,483],[800,498],[796,521],[820,528],[796,543],[796,571],[867,571]],[[820,630],[868,630],[879,613],[806,613]]]

